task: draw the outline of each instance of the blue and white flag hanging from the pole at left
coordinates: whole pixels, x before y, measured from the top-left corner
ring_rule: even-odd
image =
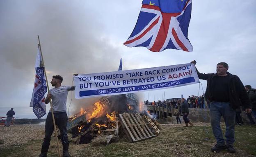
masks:
[[[44,67],[40,49],[37,49],[37,58],[35,64],[36,77],[34,82],[34,89],[30,102],[30,107],[33,107],[33,112],[37,118],[41,118],[46,114],[46,105],[44,102],[44,95],[47,92],[46,76],[44,74]]]

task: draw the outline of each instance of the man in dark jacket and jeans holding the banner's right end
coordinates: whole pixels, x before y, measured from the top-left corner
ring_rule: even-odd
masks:
[[[191,63],[196,64],[196,61]],[[217,73],[199,73],[199,79],[207,81],[205,98],[210,101],[210,121],[217,144],[211,151],[217,153],[227,149],[229,153],[235,153],[235,109],[244,106],[246,113],[251,113],[249,97],[239,77],[228,73],[228,64],[217,64]],[[242,104],[241,104],[242,102]],[[223,116],[226,124],[226,140],[223,139],[219,122]],[[226,141],[226,144],[225,144]]]

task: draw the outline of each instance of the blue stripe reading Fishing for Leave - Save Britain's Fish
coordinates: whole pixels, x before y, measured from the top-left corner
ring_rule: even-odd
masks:
[[[124,92],[130,92],[130,91],[135,92],[135,91],[143,91],[143,90],[148,90],[148,89],[176,86],[179,84],[187,84],[187,83],[191,83],[191,82],[195,82],[194,77],[188,77],[188,78],[183,78],[180,80],[169,81],[169,82],[139,85],[139,86],[126,86],[126,87],[118,87],[118,88],[106,88],[106,89],[98,89],[98,90],[80,91],[79,96],[85,97],[85,96],[90,96],[90,95],[124,93]]]

